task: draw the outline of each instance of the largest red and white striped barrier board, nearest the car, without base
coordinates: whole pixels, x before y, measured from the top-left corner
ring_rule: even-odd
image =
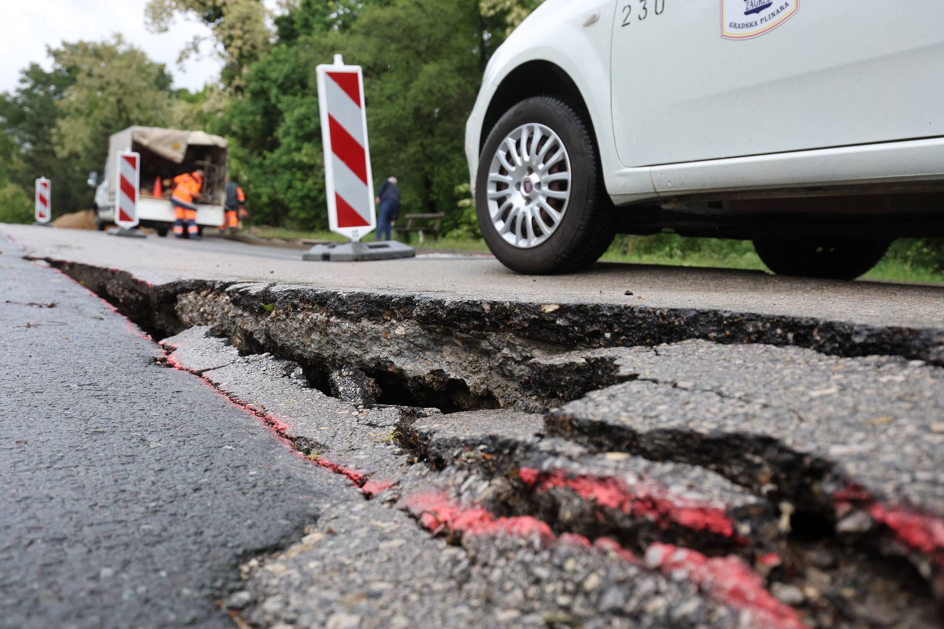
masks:
[[[330,229],[360,240],[377,228],[361,66],[338,55],[316,70]]]

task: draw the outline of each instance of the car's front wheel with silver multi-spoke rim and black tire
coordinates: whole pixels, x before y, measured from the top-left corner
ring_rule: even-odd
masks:
[[[549,96],[510,109],[485,141],[476,180],[482,236],[518,273],[568,273],[613,242],[613,204],[589,126]]]

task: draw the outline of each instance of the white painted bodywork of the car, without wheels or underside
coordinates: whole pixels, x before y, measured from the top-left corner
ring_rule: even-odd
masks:
[[[629,0],[547,0],[502,44],[466,126],[473,187],[489,105],[536,60],[581,91],[617,204],[944,181],[944,3],[800,0],[776,29],[732,41],[722,0],[666,0],[658,17],[646,2],[624,27]]]

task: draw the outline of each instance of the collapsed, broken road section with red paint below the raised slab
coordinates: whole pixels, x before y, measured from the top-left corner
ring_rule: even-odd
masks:
[[[939,331],[53,264],[353,486],[242,621],[940,625]]]

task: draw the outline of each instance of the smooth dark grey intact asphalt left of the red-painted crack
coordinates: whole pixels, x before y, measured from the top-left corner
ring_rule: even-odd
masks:
[[[239,563],[347,491],[0,241],[0,626],[228,627]]]

